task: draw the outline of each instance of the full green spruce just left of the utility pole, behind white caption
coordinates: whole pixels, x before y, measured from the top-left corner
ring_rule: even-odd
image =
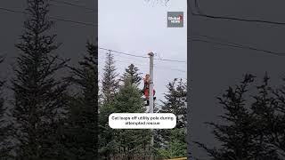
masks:
[[[128,78],[124,78],[124,84],[119,88],[115,96],[113,108],[116,113],[144,113],[145,108],[139,89],[132,84]],[[145,156],[150,153],[148,142],[151,142],[150,130],[118,130],[114,139],[118,144],[117,155],[123,159],[135,159],[135,157]],[[150,154],[147,154],[150,155]]]

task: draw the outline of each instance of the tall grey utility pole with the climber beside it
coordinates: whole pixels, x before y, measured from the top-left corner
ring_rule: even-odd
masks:
[[[149,53],[150,56],[150,113],[153,113],[153,52]],[[154,146],[154,132],[153,129],[151,129],[151,160],[154,159],[153,156],[153,146]]]

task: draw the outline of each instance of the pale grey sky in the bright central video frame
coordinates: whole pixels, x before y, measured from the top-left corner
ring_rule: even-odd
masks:
[[[99,0],[99,46],[119,52],[170,60],[187,60],[186,1],[175,0],[167,5],[146,0]],[[184,12],[183,28],[167,28],[167,11]],[[106,51],[99,50],[99,72],[102,77]],[[114,52],[118,73],[134,63],[142,72],[149,72],[149,59],[135,58]],[[186,79],[186,63],[155,60],[154,87],[159,100],[174,78]],[[183,72],[184,71],[184,72]],[[100,77],[100,78],[101,78]]]

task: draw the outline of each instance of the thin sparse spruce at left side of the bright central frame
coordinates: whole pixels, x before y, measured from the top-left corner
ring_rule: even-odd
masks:
[[[118,74],[116,73],[114,56],[111,52],[107,53],[104,73],[102,77],[102,96],[103,100],[108,103],[118,91]]]

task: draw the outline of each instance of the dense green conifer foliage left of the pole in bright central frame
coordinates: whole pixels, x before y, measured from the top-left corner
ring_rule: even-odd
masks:
[[[119,87],[114,99],[109,103],[104,103],[100,109],[101,159],[115,157],[135,159],[150,155],[150,130],[113,130],[108,124],[108,117],[111,113],[145,112],[142,95],[137,85],[132,83],[133,81],[130,80],[128,74],[125,75],[123,76],[123,84]]]

